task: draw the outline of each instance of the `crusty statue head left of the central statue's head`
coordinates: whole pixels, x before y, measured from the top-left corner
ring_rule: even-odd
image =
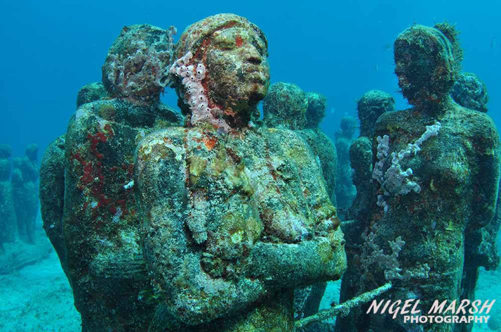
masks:
[[[124,26],[108,50],[103,84],[113,97],[158,101],[168,84],[175,28],[149,24]]]

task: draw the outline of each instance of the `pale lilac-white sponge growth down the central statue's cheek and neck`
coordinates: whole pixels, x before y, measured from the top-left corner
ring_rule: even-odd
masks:
[[[191,110],[191,124],[210,122],[217,128],[228,131],[229,125],[223,119],[215,116],[221,114],[222,111],[217,107],[209,107],[209,101],[202,85],[206,73],[205,66],[202,63],[193,63],[192,57],[193,54],[188,51],[184,56],[174,61],[169,70],[170,73],[182,78],[181,83],[188,93],[186,101]]]

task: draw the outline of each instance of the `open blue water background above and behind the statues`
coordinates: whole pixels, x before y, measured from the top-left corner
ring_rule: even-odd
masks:
[[[71,3],[68,3],[71,2]],[[234,12],[259,25],[269,41],[272,82],[293,82],[329,99],[323,129],[334,138],[339,120],[355,115],[369,89],[406,102],[393,73],[392,44],[414,22],[457,23],[463,69],[490,94],[489,114],[501,124],[501,26],[498,1],[2,1],[0,10],[0,143],[41,151],[66,131],[78,89],[101,80],[108,47],[124,25],[175,25]],[[340,2],[340,3],[335,3]],[[164,101],[176,105],[174,91]]]

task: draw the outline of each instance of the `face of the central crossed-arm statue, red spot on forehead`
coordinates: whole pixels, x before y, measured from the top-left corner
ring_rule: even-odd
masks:
[[[253,30],[230,27],[213,32],[206,51],[209,97],[238,112],[238,104],[262,100],[270,84],[268,49]]]

